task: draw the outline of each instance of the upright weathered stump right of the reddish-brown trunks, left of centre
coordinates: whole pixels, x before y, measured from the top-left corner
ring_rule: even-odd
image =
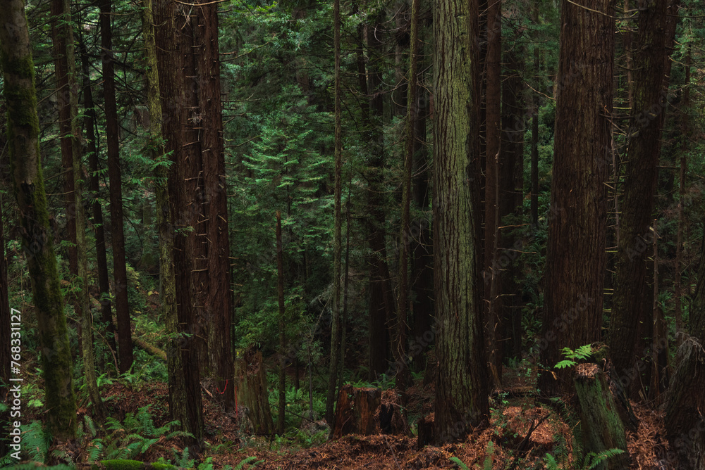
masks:
[[[246,414],[252,421],[255,434],[274,432],[268,391],[262,352],[247,348],[241,357],[235,359],[235,393],[238,409],[247,408]]]

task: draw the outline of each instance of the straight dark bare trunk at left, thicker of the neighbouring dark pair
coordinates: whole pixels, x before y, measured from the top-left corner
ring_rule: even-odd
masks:
[[[100,0],[100,47],[102,49],[103,96],[110,183],[110,231],[113,245],[115,312],[118,319],[118,364],[120,372],[123,373],[132,367],[133,345],[125,263],[125,234],[123,232],[123,183],[120,169],[120,143],[118,141],[118,108],[115,101],[112,14],[111,0]]]

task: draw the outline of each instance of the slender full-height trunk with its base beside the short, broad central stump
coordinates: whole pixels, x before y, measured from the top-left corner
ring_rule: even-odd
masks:
[[[333,428],[333,404],[336,400],[338,362],[341,356],[341,170],[343,167],[343,127],[341,122],[341,0],[333,3],[333,50],[335,54],[335,189],[333,189],[335,227],[333,228],[333,308],[331,322],[331,362],[329,367],[328,394],[326,395],[326,421]]]

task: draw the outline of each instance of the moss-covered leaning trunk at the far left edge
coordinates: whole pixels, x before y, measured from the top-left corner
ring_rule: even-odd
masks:
[[[51,436],[58,440],[73,440],[76,433],[76,400],[71,348],[68,345],[54,241],[49,230],[39,155],[35,72],[24,2],[0,0],[0,11],[3,11],[6,25],[0,28],[0,60],[8,106],[13,191],[32,279],[32,298],[37,307],[47,428]]]

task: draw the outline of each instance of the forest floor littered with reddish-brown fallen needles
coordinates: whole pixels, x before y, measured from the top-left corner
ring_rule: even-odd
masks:
[[[528,387],[513,378],[503,393],[496,396],[489,427],[478,430],[467,440],[453,445],[434,447],[417,446],[415,436],[377,434],[374,436],[350,435],[338,440],[328,440],[321,445],[302,447],[300,440],[276,439],[264,436],[243,436],[235,413],[224,414],[204,394],[204,422],[209,443],[205,456],[212,457],[211,468],[230,465],[243,469],[543,469],[546,455],[551,454],[556,468],[583,468],[583,463],[571,462],[572,429],[548,407],[534,402]],[[121,420],[128,413],[137,414],[150,405],[154,424],[162,426],[168,421],[168,390],[166,383],[148,383],[142,386],[125,386],[114,383],[103,390],[106,405],[112,417]],[[420,383],[409,390],[408,412],[412,428],[415,420],[432,411],[433,386]],[[655,462],[666,455],[668,443],[663,429],[663,414],[643,405],[633,404],[639,419],[636,433],[627,433],[631,469],[658,468]],[[86,410],[82,409],[85,413]],[[322,426],[322,421],[319,423]],[[302,426],[302,433],[314,433],[320,427]],[[90,447],[90,444],[88,445]],[[83,445],[85,447],[85,445]],[[90,449],[75,449],[75,462],[85,461]],[[179,438],[165,438],[150,446],[140,456],[144,462],[156,462],[164,457],[172,462],[183,450]],[[248,459],[248,457],[250,457]],[[454,458],[455,457],[455,458]],[[453,459],[453,460],[451,460]],[[258,462],[256,466],[253,466]],[[562,463],[562,464],[561,464]],[[82,466],[78,464],[79,468]],[[666,467],[661,467],[666,468]]]

